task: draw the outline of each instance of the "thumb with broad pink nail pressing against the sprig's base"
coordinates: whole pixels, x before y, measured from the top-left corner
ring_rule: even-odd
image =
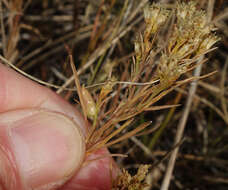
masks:
[[[24,109],[0,114],[0,189],[49,190],[80,167],[79,126],[63,114]]]

